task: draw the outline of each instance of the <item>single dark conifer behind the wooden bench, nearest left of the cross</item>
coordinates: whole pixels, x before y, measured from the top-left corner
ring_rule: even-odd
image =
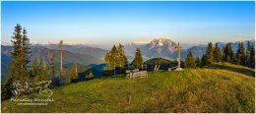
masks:
[[[132,66],[134,69],[142,69],[143,58],[140,48],[136,49],[134,60],[132,61]]]

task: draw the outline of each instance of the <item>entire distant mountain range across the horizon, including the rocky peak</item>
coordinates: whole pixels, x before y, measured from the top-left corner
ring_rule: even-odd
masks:
[[[250,40],[255,43],[254,40]],[[246,47],[247,41],[243,41],[244,47]],[[238,48],[238,41],[232,42],[232,49],[234,51]],[[218,42],[219,47],[223,49],[225,43]],[[134,58],[136,48],[140,48],[143,54],[144,61],[161,57],[171,61],[175,61],[177,57],[177,51],[175,47],[177,42],[167,39],[167,38],[158,38],[154,39],[146,44],[130,43],[124,45],[125,52],[128,58],[128,61],[131,62]],[[182,46],[182,43],[181,43]],[[190,47],[182,48],[181,50],[181,61],[184,61],[189,51],[193,53],[194,58],[201,58],[206,52],[206,44],[193,45]],[[47,55],[51,51],[54,55],[54,62],[59,63],[60,56],[58,45],[54,43],[32,43],[32,59],[33,58],[45,58],[46,62],[48,61]],[[13,47],[9,43],[2,43],[1,45],[1,77],[2,79],[6,78],[8,73],[8,63],[10,62],[10,52],[13,50]],[[78,63],[80,65],[95,67],[96,71],[103,69],[104,62],[103,58],[107,51],[106,49],[101,49],[97,47],[92,47],[87,44],[82,43],[68,43],[63,45],[63,62],[64,64],[74,64]]]

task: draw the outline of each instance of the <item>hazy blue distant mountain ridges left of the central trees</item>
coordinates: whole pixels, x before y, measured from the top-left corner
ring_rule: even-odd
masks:
[[[70,49],[72,49],[72,48],[70,48]],[[13,46],[1,45],[1,73],[2,73],[1,77],[2,77],[2,80],[4,80],[7,76],[8,64],[11,61],[10,54],[11,54],[12,50],[13,50]],[[54,63],[56,63],[56,64],[60,63],[60,56],[59,56],[60,52],[56,49],[50,49],[50,48],[46,48],[46,47],[42,47],[42,46],[32,46],[31,50],[32,50],[31,61],[34,58],[35,59],[39,58],[41,60],[42,60],[42,58],[45,58],[45,61],[47,62],[48,61],[48,59],[47,59],[48,52],[51,51],[52,54],[54,55]],[[75,51],[75,50],[76,50],[76,47],[74,47],[73,52],[72,52],[72,50],[69,50],[69,51],[64,50],[63,51],[63,63],[64,64],[78,63],[81,65],[90,66],[90,65],[94,65],[94,64],[102,64],[103,63],[102,56],[104,55],[104,52],[105,52],[104,50],[99,49],[100,50],[100,51],[98,51],[99,53],[96,53],[98,49],[94,50],[94,48],[89,48],[88,53],[82,52],[81,49],[77,50],[77,51]],[[76,52],[80,52],[80,53],[76,53]]]

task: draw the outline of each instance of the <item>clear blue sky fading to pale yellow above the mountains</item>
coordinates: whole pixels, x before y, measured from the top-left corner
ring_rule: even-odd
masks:
[[[20,24],[32,41],[90,44],[145,43],[165,37],[182,43],[254,39],[249,2],[1,2],[1,41]]]

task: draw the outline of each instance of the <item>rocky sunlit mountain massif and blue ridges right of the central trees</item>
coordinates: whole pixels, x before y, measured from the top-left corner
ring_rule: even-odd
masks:
[[[245,48],[246,48],[247,41],[248,40],[243,41],[243,45]],[[255,44],[255,40],[249,40],[249,41]],[[239,41],[230,42],[232,45],[232,49],[234,51],[236,51],[238,48],[238,42]],[[176,60],[177,58],[177,51],[175,49],[175,47],[177,46],[176,43],[177,42],[174,42],[171,39],[157,38],[157,39],[153,39],[151,42],[146,44],[130,43],[129,45],[125,45],[125,52],[128,56],[130,56],[129,58],[133,58],[136,48],[140,48],[142,50],[143,57],[145,60],[149,60],[151,58],[156,58],[156,57],[166,58],[169,60]],[[218,42],[218,45],[219,47],[221,47],[221,49],[224,48],[225,44],[226,43],[224,42]],[[213,46],[215,46],[215,44]],[[182,43],[181,43],[181,47],[182,47]],[[197,57],[201,58],[206,52],[206,47],[207,47],[207,44],[197,44],[197,45],[187,47],[185,49],[182,48],[181,60],[182,61],[185,60],[189,51],[192,52],[194,58],[197,58]],[[132,61],[132,59],[129,59],[129,60]]]

